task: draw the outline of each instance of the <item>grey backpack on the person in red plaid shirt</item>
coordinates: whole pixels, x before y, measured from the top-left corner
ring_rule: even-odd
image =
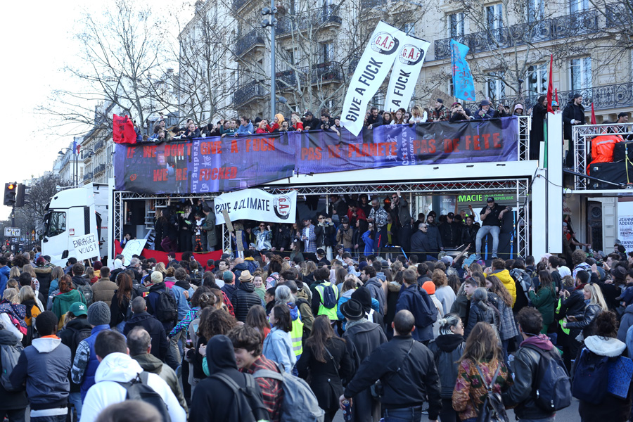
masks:
[[[255,378],[272,378],[281,381],[283,388],[283,404],[281,418],[283,422],[323,422],[325,412],[319,407],[319,402],[309,385],[301,378],[290,375],[282,369],[279,373],[269,369],[260,369],[252,374]]]

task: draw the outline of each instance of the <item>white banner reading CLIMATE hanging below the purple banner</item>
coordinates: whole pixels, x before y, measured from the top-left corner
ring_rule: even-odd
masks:
[[[213,200],[215,224],[224,224],[223,210],[231,222],[250,219],[260,222],[292,223],[297,215],[297,191],[272,195],[261,189],[223,193]]]

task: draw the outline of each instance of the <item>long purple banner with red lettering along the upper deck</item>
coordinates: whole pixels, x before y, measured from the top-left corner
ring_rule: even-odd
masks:
[[[205,138],[161,145],[117,144],[117,190],[236,191],[293,175],[462,162],[516,161],[516,117]]]

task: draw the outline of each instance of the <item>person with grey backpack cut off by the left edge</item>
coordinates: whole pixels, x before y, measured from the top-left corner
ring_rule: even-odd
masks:
[[[24,422],[29,405],[24,389],[13,388],[10,378],[23,349],[20,340],[0,324],[0,418],[11,422]]]

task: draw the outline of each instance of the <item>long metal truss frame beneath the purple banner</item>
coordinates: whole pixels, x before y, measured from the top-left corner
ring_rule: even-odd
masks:
[[[492,180],[445,180],[445,181],[401,181],[396,183],[380,184],[378,182],[366,183],[334,183],[321,185],[288,185],[288,186],[264,186],[264,190],[269,193],[279,194],[288,191],[297,191],[300,196],[312,195],[333,195],[333,194],[353,194],[367,193],[369,195],[378,195],[382,193],[392,193],[398,189],[402,193],[409,193],[409,198],[414,194],[428,195],[446,195],[458,194],[474,190],[486,190],[495,193],[514,193],[516,196],[517,218],[515,222],[516,238],[513,236],[512,243],[516,245],[516,254],[520,256],[528,256],[530,253],[530,178],[518,179],[492,179]],[[217,193],[208,193],[206,195],[157,195],[144,194],[136,192],[115,191],[114,192],[114,238],[121,238],[123,233],[123,223],[125,216],[126,200],[155,200],[155,206],[167,205],[168,200],[203,198],[212,199],[218,196]],[[413,201],[410,201],[412,203]],[[413,204],[411,204],[413,206]],[[222,225],[222,244],[224,250],[231,250],[231,239],[226,226]]]

